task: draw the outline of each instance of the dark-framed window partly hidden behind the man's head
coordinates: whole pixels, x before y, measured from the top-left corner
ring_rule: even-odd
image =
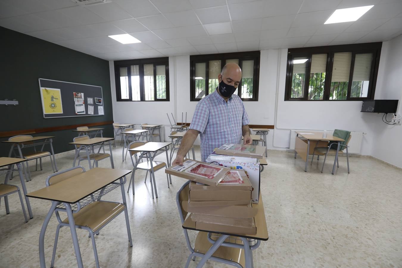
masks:
[[[234,94],[242,100],[257,101],[260,51],[190,56],[190,100],[199,101],[212,94],[219,85],[218,75],[230,62],[242,69],[242,79]]]

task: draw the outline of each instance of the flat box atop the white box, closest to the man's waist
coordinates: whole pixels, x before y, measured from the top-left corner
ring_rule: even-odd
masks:
[[[261,159],[267,147],[259,145],[225,143],[216,149],[217,154]]]

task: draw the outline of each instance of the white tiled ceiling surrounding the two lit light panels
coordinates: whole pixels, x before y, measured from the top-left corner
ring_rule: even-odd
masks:
[[[374,5],[324,25],[336,8]],[[0,26],[107,60],[311,47],[402,34],[401,0],[1,0]],[[142,43],[107,37],[129,33]]]

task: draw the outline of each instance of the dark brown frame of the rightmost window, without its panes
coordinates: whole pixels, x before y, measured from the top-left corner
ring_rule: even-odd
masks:
[[[345,101],[345,100],[330,100],[330,83],[332,78],[332,65],[334,62],[334,53],[338,52],[352,52],[352,60],[349,74],[347,101],[360,101],[360,100],[373,100],[375,94],[375,84],[377,82],[378,65],[379,58],[381,54],[382,42],[376,43],[362,43],[362,44],[351,44],[351,45],[333,45],[333,46],[323,46],[323,47],[301,47],[289,49],[287,52],[287,63],[286,63],[286,84],[285,84],[285,100],[290,101]],[[326,79],[324,84],[324,97],[322,100],[309,100],[308,99],[308,84],[310,82],[310,67],[312,54],[327,53],[327,63],[326,63]],[[361,53],[373,53],[373,59],[371,61],[371,70],[369,78],[369,87],[367,91],[367,97],[363,98],[352,98],[351,86],[353,80],[353,69],[355,64],[355,55]],[[290,98],[291,95],[291,81],[293,76],[293,58],[294,57],[308,57],[306,61],[306,78],[304,85],[304,97],[303,98]],[[328,78],[328,79],[327,79]]]

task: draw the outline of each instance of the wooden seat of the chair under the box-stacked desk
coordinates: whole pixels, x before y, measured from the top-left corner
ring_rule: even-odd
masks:
[[[239,241],[239,240],[237,240]],[[208,241],[208,233],[199,232],[197,238],[195,239],[194,250],[201,254],[207,253],[212,244]],[[224,260],[232,260],[237,262],[241,266],[245,267],[244,260],[244,250],[240,248],[230,248],[225,246],[220,246],[214,253],[214,257],[221,258]]]

